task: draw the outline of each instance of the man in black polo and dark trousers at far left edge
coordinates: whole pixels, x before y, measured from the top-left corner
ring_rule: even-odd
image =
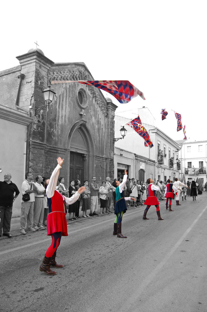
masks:
[[[11,173],[5,173],[4,181],[0,181],[0,236],[12,237],[9,233],[12,219],[13,202],[19,195],[19,190],[11,181]],[[14,196],[15,193],[15,196]]]

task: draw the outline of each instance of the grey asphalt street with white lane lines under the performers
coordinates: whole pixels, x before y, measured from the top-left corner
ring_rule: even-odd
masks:
[[[114,215],[68,226],[48,276],[38,270],[51,237],[46,231],[0,241],[0,311],[206,312],[207,195],[181,201],[163,221],[152,206],[123,217],[126,239],[112,236]]]

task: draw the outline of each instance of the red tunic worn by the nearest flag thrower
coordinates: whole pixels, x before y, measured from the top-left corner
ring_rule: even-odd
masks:
[[[68,236],[67,221],[65,217],[64,197],[57,191],[48,198],[49,214],[47,216],[47,235],[62,232],[62,236]]]

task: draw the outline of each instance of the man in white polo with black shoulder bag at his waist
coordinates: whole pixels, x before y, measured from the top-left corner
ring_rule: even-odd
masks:
[[[37,191],[37,187],[35,182],[32,182],[33,175],[32,173],[26,173],[26,180],[21,185],[22,195],[29,194],[30,199],[28,201],[21,200],[21,217],[20,217],[20,233],[26,234],[26,222],[27,222],[27,230],[35,232],[35,229],[32,227],[33,224],[33,209],[35,202],[35,194]]]

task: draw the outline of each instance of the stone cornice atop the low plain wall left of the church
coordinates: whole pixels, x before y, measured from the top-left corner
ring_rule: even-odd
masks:
[[[19,114],[15,110],[6,110],[5,108],[0,107],[0,118],[14,121],[18,124],[28,125],[32,123],[33,119],[27,116],[25,113]]]

